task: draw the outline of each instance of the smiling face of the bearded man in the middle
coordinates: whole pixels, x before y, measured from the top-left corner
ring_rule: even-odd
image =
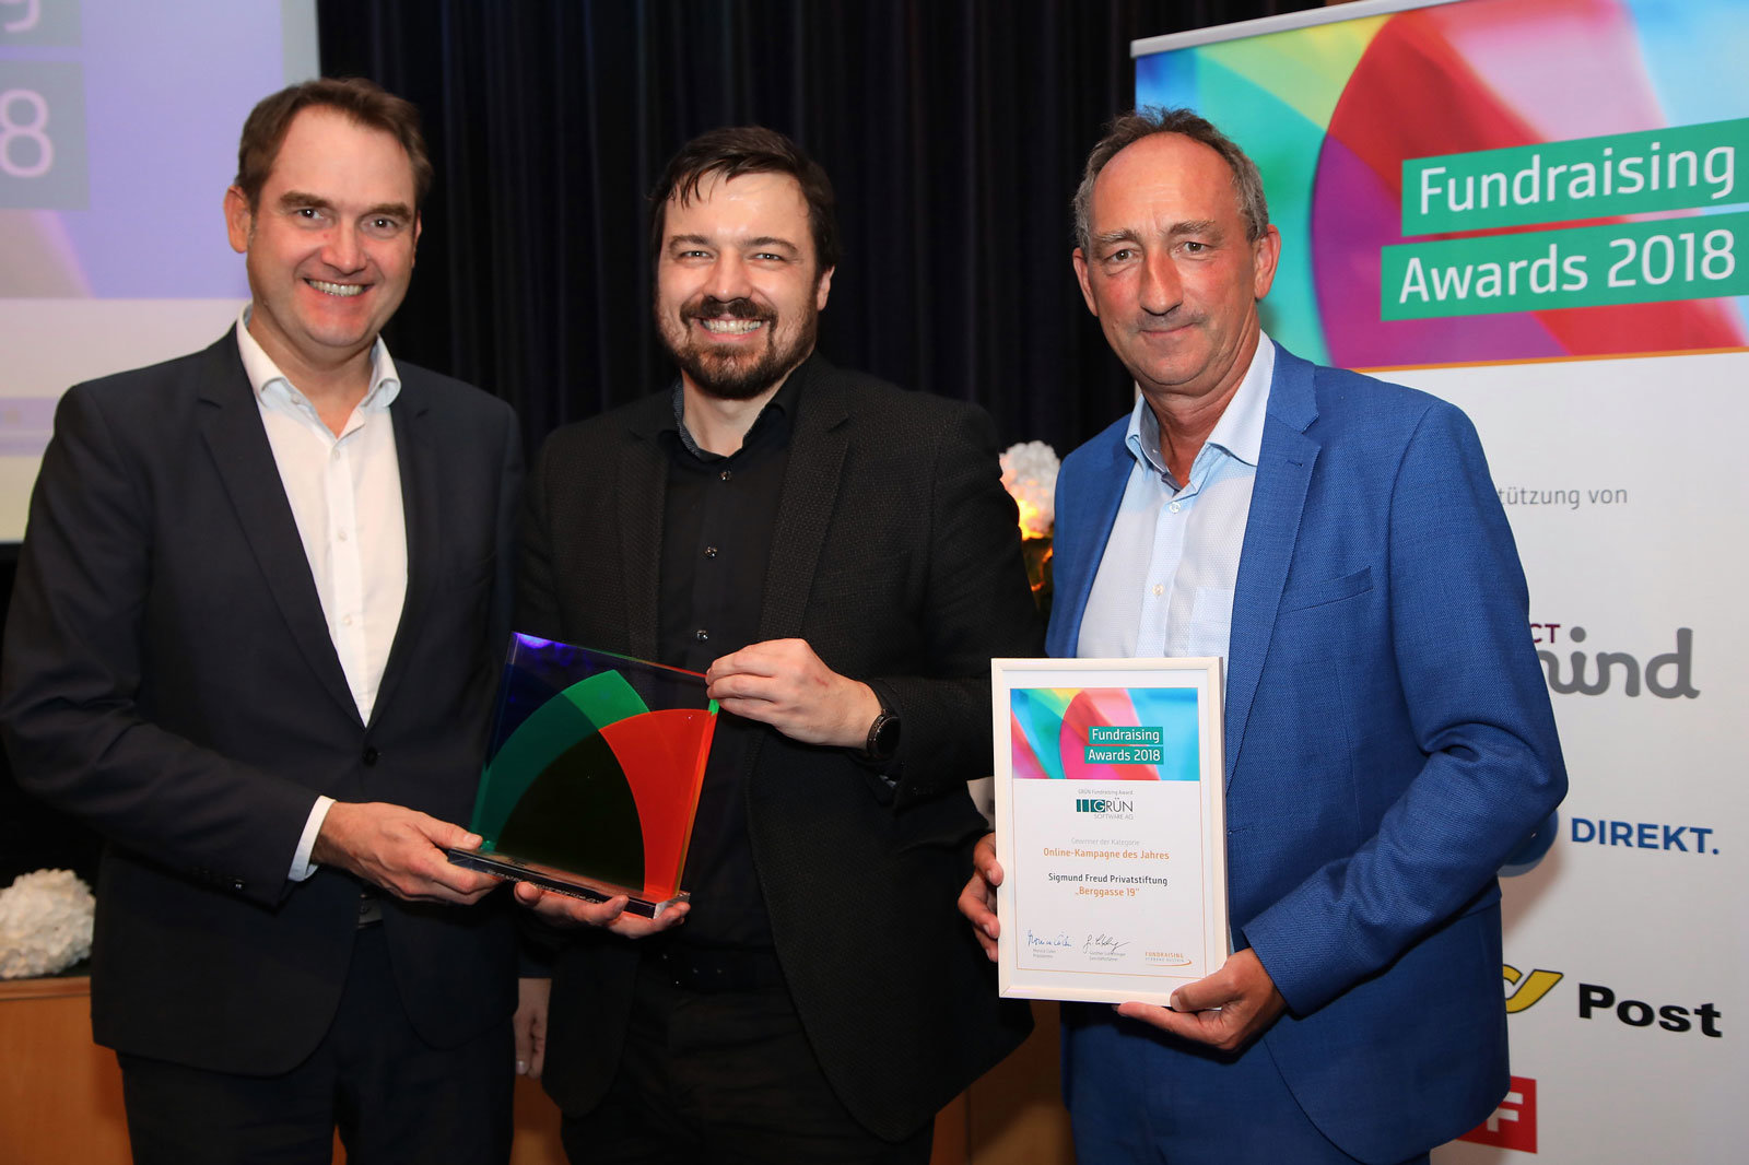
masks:
[[[693,201],[668,199],[656,329],[700,392],[750,401],[782,381],[813,352],[831,285],[787,173],[712,175]]]

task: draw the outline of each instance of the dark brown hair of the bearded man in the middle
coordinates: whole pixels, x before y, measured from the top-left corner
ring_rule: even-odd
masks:
[[[721,175],[728,182],[743,173],[787,173],[796,178],[808,201],[808,227],[819,262],[815,275],[836,268],[838,201],[833,198],[833,180],[806,150],[764,126],[726,126],[701,133],[680,147],[651,191],[651,261],[661,257],[670,198],[686,206],[698,198],[698,187],[710,175]]]

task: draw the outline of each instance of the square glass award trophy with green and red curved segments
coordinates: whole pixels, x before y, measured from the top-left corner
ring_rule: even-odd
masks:
[[[512,635],[469,826],[484,841],[449,861],[659,917],[687,897],[715,726],[698,672]]]

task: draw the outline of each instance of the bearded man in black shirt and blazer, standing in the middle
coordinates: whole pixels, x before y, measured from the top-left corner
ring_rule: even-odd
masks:
[[[680,378],[547,441],[518,623],[707,672],[724,717],[686,925],[537,904],[603,927],[558,957],[546,1086],[577,1162],[925,1162],[1027,1029],[951,904],[990,656],[1041,649],[1014,504],[983,411],[813,353],[833,192],[792,142],[707,133],[654,201]]]

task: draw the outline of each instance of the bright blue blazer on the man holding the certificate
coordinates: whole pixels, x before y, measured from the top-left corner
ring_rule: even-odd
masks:
[[[1049,652],[1074,656],[1125,422],[1056,485]],[[1401,1162],[1506,1093],[1495,871],[1567,775],[1469,420],[1277,348],[1226,663],[1228,897],[1312,1121]]]

